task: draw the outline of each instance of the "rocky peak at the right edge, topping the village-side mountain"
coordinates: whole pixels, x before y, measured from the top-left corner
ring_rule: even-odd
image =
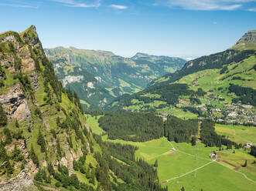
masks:
[[[246,32],[231,49],[256,49],[256,30]]]

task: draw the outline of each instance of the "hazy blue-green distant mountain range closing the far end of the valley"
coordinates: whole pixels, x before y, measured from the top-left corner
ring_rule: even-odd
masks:
[[[124,58],[107,51],[45,49],[56,75],[77,92],[84,107],[102,107],[124,93],[138,92],[169,72],[181,69],[185,60],[137,53]]]

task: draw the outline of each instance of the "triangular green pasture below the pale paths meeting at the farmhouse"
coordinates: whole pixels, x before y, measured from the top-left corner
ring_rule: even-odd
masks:
[[[256,184],[244,178],[241,173],[235,172],[219,163],[213,162],[193,173],[179,179],[173,179],[167,185],[169,190],[207,190],[207,191],[253,191]]]

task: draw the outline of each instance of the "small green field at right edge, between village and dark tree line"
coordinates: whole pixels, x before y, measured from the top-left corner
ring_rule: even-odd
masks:
[[[218,134],[228,136],[234,142],[256,142],[256,127],[254,126],[232,126],[216,124],[215,130]]]

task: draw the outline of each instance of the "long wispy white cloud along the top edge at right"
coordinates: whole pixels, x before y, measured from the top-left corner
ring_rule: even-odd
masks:
[[[187,10],[232,11],[236,10],[237,8],[241,8],[246,2],[256,2],[256,0],[168,0],[161,2],[162,5],[183,8]]]

